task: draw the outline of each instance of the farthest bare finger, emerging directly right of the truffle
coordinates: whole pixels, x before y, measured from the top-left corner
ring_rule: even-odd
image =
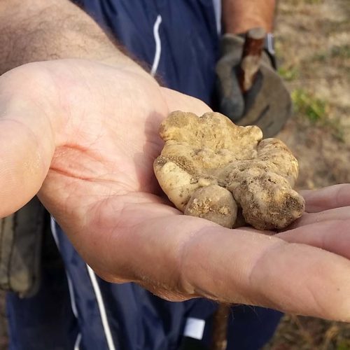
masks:
[[[321,190],[304,190],[300,194],[305,199],[305,210],[309,213],[350,206],[349,183],[330,186]]]

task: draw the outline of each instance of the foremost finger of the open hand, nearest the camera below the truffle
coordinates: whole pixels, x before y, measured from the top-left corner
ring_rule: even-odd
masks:
[[[193,248],[183,264],[186,281],[196,293],[224,302],[349,320],[349,260],[312,246],[282,244],[276,237],[247,232],[221,232],[215,237],[218,232],[205,231],[207,237],[190,244]]]

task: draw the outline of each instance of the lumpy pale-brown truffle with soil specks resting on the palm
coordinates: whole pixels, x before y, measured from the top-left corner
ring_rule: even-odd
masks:
[[[258,230],[286,228],[302,216],[304,199],[293,190],[297,160],[280,140],[262,141],[258,127],[235,125],[221,113],[175,111],[162,121],[160,137],[155,176],[186,215],[232,228],[237,210],[224,218],[220,208],[240,207]]]

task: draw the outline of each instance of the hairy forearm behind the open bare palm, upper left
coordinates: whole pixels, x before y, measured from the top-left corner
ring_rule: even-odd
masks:
[[[94,59],[141,67],[69,0],[0,0],[0,74],[28,62]]]

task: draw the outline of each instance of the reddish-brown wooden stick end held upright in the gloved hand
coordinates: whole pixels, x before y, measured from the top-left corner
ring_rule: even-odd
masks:
[[[243,93],[253,86],[256,73],[258,73],[260,67],[265,36],[266,32],[262,28],[253,28],[246,33],[238,74],[239,87],[241,87]]]

